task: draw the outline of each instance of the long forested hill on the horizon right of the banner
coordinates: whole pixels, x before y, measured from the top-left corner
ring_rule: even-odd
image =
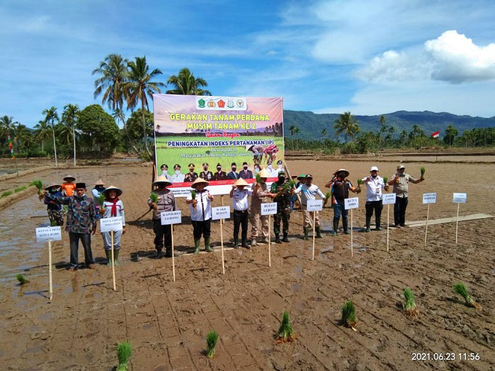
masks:
[[[445,134],[445,129],[450,124],[455,129],[458,129],[459,134],[462,134],[462,131],[466,129],[495,127],[495,116],[487,119],[485,117],[458,116],[448,112],[431,111],[397,111],[383,114],[383,116],[385,116],[387,126],[395,127],[395,136],[399,135],[403,130],[411,131],[414,124],[419,125],[426,135],[439,130],[441,136]],[[326,138],[334,139],[335,131],[333,126],[338,117],[339,114],[333,113],[315,114],[313,112],[284,110],[284,134],[290,138],[289,127],[294,125],[299,127],[298,137],[301,139],[320,139],[322,138],[322,129],[327,129]],[[358,120],[361,131],[380,130],[379,114],[375,116],[356,115],[354,117]]]

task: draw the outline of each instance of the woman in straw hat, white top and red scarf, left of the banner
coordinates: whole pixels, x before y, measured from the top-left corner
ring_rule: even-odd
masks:
[[[119,265],[120,237],[125,233],[124,204],[119,199],[122,189],[110,186],[103,191],[103,194],[105,194],[105,201],[103,202],[102,218],[113,218],[115,216],[122,218],[122,230],[113,232],[113,263],[117,266]],[[112,265],[112,232],[102,232],[101,237],[103,237],[103,247],[107,256],[107,266],[110,266]]]

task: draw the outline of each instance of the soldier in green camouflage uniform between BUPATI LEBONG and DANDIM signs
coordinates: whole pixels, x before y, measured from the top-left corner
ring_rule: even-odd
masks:
[[[285,177],[284,170],[279,172],[279,179],[272,183],[270,192],[275,193],[274,202],[276,202],[276,214],[273,218],[273,229],[275,233],[275,242],[281,244],[282,241],[289,242],[289,220],[291,218],[291,195],[293,189]],[[284,224],[282,232],[284,238],[280,240],[280,223]]]

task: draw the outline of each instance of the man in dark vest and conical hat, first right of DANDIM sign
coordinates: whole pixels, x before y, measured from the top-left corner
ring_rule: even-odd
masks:
[[[354,193],[361,192],[361,187],[354,188],[347,180],[349,177],[349,172],[345,169],[339,169],[334,172],[334,177],[325,184],[325,187],[332,189],[332,206],[334,209],[334,231],[332,236],[337,235],[337,228],[339,228],[339,220],[342,215],[342,228],[344,229],[344,235],[349,235],[349,210],[344,208],[345,199],[349,199],[349,191]]]

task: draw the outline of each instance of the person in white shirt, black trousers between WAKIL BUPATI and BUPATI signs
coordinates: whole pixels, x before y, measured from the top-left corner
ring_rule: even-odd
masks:
[[[234,248],[239,248],[239,226],[242,228],[241,245],[248,246],[248,196],[252,196],[252,189],[248,189],[248,182],[243,178],[239,178],[233,185],[230,196],[234,207]]]

